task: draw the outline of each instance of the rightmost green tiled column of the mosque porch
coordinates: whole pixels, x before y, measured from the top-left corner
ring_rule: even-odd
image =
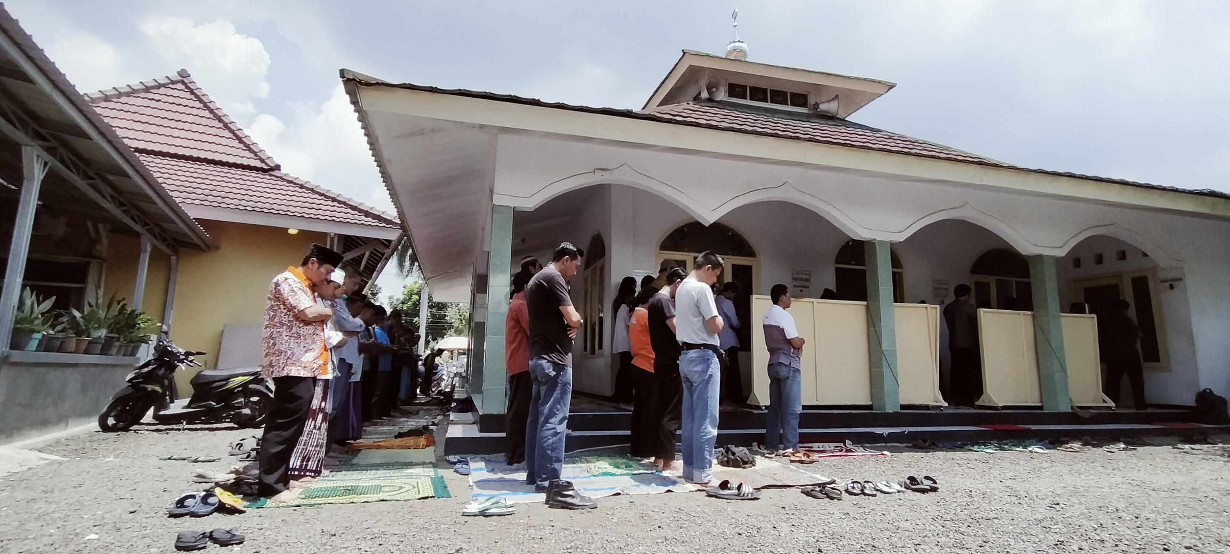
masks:
[[[1038,353],[1042,409],[1068,412],[1068,362],[1059,314],[1059,279],[1054,256],[1030,256],[1030,289],[1033,291],[1033,339]]]

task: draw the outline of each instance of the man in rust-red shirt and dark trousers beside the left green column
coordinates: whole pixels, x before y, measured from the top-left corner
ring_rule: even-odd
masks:
[[[536,260],[535,260],[536,262]],[[504,462],[525,461],[525,423],[530,416],[534,382],[530,380],[530,316],[525,307],[528,270],[513,275],[513,300],[504,318],[504,366],[508,369],[508,413],[504,416]]]

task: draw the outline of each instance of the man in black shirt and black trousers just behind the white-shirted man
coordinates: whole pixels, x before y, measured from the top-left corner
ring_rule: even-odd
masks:
[[[679,431],[684,389],[679,380],[679,340],[675,338],[675,290],[688,276],[680,268],[672,268],[664,279],[665,287],[649,298],[649,344],[653,346],[653,377],[658,382],[658,405],[653,420],[658,424],[653,447],[653,463],[668,470],[675,466],[675,432]]]

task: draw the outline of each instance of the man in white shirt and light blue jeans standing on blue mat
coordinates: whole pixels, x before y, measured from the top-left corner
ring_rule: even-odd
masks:
[[[692,273],[675,290],[675,337],[679,339],[679,377],[683,381],[684,479],[708,485],[713,479],[717,441],[717,399],[722,351],[717,334],[722,317],[713,302],[713,283],[722,274],[722,257],[704,252]]]

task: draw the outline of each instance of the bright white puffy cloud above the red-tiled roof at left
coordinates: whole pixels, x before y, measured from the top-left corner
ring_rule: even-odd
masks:
[[[269,54],[260,39],[240,34],[226,20],[194,25],[186,17],[151,16],[141,32],[162,58],[192,77],[236,122],[256,117],[253,98],[267,98]]]

